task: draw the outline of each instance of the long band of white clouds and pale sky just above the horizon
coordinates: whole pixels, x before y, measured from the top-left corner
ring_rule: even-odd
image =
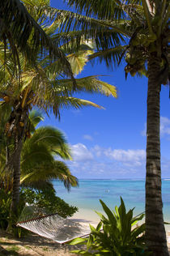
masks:
[[[73,161],[67,161],[71,173],[83,178],[145,177],[146,151],[143,149],[113,149],[83,143],[72,147]],[[163,177],[168,177],[170,160],[162,157]]]

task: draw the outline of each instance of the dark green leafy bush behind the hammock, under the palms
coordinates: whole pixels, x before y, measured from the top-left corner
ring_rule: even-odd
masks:
[[[0,189],[0,228],[5,229],[10,224],[10,230],[16,237],[21,236],[21,228],[13,225],[17,223],[18,217],[23,211],[25,204],[33,204],[37,207],[43,208],[50,213],[57,213],[62,217],[74,215],[78,211],[77,207],[70,206],[61,198],[55,195],[53,189],[39,191],[32,189],[22,189],[20,191],[20,200],[18,207],[18,215],[10,217],[11,210],[11,191],[6,192],[3,188]],[[15,219],[15,220],[14,220]],[[25,233],[25,232],[24,232]]]

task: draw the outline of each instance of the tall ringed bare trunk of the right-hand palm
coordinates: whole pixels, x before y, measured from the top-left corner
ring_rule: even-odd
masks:
[[[161,194],[158,76],[159,58],[152,53],[148,60],[146,241],[154,256],[168,256]]]

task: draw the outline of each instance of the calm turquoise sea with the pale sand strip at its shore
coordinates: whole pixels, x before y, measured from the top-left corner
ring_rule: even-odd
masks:
[[[104,213],[100,199],[114,210],[120,205],[120,197],[125,202],[127,210],[134,208],[134,215],[138,215],[145,208],[145,181],[144,180],[97,180],[79,179],[79,187],[66,190],[61,181],[53,181],[58,197],[66,203],[79,207],[79,218],[86,220],[99,220],[96,211]],[[170,179],[162,180],[162,196],[164,221],[170,223]],[[166,225],[170,230],[170,225]]]

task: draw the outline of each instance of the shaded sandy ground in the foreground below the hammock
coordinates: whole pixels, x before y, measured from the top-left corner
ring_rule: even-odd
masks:
[[[168,233],[170,254],[170,233]],[[71,250],[77,246],[59,245],[55,241],[30,233],[27,237],[14,239],[9,233],[0,230],[0,256],[74,256]]]

